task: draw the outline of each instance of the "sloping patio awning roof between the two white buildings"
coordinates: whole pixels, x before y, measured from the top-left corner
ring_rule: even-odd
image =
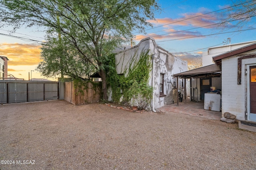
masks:
[[[212,64],[209,66],[204,66],[200,68],[196,68],[194,70],[189,70],[185,72],[181,72],[178,74],[174,74],[174,77],[180,78],[210,78],[210,77],[220,77],[221,70],[220,66],[216,64]]]

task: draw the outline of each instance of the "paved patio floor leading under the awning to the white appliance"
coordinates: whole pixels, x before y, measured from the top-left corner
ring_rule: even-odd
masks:
[[[191,116],[204,117],[206,119],[220,120],[221,111],[210,111],[204,109],[204,102],[190,102],[187,101],[179,102],[179,106],[175,104],[170,104],[164,107],[160,107],[158,110],[162,112],[175,112],[182,113]]]

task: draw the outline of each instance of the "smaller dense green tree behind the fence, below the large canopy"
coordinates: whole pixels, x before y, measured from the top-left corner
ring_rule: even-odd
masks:
[[[96,72],[91,63],[84,61],[76,49],[69,46],[66,37],[60,39],[58,34],[47,36],[47,42],[42,44],[40,56],[41,61],[36,70],[41,72],[42,76],[62,75],[62,78],[65,76],[74,80],[87,80]]]

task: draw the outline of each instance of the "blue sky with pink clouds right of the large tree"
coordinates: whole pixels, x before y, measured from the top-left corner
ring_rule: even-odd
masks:
[[[153,29],[147,30],[149,35],[142,37],[156,36],[153,38],[160,47],[184,60],[191,60],[193,57],[201,56],[202,51],[206,51],[207,47],[224,45],[225,43],[222,42],[225,42],[228,38],[231,38],[231,43],[256,40],[256,30],[224,33],[237,31],[236,27],[230,28],[235,25],[235,22],[230,23],[229,28],[213,25],[227,16],[227,10],[222,9],[233,6],[231,0],[160,0],[159,3],[162,6],[162,12],[156,14],[156,21],[151,21],[156,28],[153,27]],[[252,19],[254,19],[255,23],[255,17]],[[206,27],[207,25],[212,26]],[[244,25],[241,29],[248,29],[248,25]],[[188,38],[194,36],[202,37]],[[139,39],[142,37],[139,37]],[[185,53],[188,51],[194,52]]]

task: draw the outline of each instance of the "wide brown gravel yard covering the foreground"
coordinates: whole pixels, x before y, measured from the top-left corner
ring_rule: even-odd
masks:
[[[256,133],[105,104],[8,104],[0,105],[0,160],[14,163],[1,161],[1,170],[255,170]]]

